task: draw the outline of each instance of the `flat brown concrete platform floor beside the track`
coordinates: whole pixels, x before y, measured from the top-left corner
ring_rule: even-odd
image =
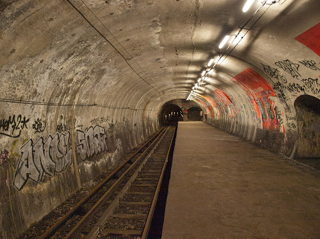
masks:
[[[320,173],[179,122],[162,238],[319,239]]]

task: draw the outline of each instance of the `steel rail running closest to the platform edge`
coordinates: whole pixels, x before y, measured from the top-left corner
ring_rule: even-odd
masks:
[[[169,154],[170,154],[170,151],[171,151],[171,147],[172,147],[172,143],[173,143],[174,134],[176,132],[176,129],[177,129],[177,125],[175,126],[173,134],[172,134],[169,150],[168,150],[168,152],[166,154],[166,157],[165,157],[165,161],[164,161],[164,164],[163,164],[163,167],[162,167],[161,175],[160,175],[158,184],[157,184],[156,189],[155,189],[155,193],[154,193],[153,200],[152,200],[152,203],[151,203],[151,206],[150,206],[148,217],[147,217],[146,222],[145,222],[145,226],[143,228],[141,239],[147,239],[148,234],[149,234],[149,230],[150,230],[150,226],[151,226],[151,222],[152,222],[152,218],[153,218],[153,213],[154,213],[155,206],[156,206],[156,201],[157,201],[158,196],[159,196],[159,192],[160,192],[160,187],[161,187],[164,171],[165,171],[165,168],[166,168],[166,165],[167,165],[167,162],[168,162],[168,158],[169,158]]]

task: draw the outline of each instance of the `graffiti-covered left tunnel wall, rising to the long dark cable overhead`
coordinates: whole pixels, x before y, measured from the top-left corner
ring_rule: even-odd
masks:
[[[159,93],[66,1],[13,1],[0,25],[0,237],[16,238],[154,132]]]

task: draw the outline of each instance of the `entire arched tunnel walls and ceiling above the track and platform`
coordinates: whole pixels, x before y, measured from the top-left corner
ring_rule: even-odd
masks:
[[[1,1],[0,238],[174,117],[317,160],[319,1],[244,4]]]

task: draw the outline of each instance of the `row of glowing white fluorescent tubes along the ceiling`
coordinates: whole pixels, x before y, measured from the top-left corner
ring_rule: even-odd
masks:
[[[281,0],[282,2],[284,2],[285,0]],[[252,3],[254,2],[254,0],[247,0],[242,8],[243,12],[246,12],[250,6],[252,5]],[[266,0],[261,0],[261,4],[265,3]],[[279,1],[278,1],[279,2]],[[275,3],[275,1],[272,1],[272,3]],[[223,46],[225,45],[225,43],[227,43],[227,41],[229,40],[230,35],[226,35],[223,40],[221,41],[221,43],[219,44],[218,48],[221,49],[223,48]],[[218,63],[218,61],[221,59],[223,55],[219,55],[214,59],[210,59],[207,66],[211,66],[212,63],[214,62],[214,65],[211,67],[210,70],[206,71],[202,71],[201,73],[201,77],[197,80],[197,83],[195,83],[195,85],[192,87],[192,90],[189,94],[189,96],[186,98],[186,100],[191,100],[193,98],[193,96],[195,95],[195,92],[197,91],[198,87],[204,83],[204,81],[213,73],[213,68],[215,67],[215,65]]]

